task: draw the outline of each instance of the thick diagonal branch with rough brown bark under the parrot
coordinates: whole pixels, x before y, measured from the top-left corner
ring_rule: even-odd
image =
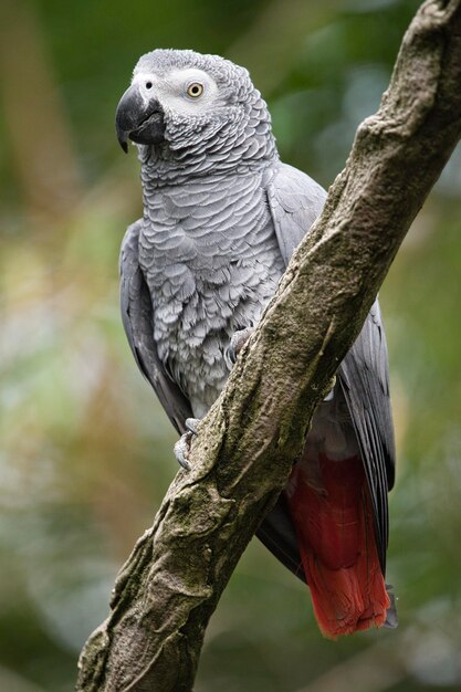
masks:
[[[378,113],[244,347],[80,660],[81,692],[192,689],[208,620],[461,136],[461,0],[422,4]],[[268,616],[270,617],[270,616]]]

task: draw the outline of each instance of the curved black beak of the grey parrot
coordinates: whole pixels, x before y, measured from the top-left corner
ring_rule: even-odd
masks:
[[[146,103],[139,85],[133,84],[117,106],[115,127],[125,154],[128,153],[128,139],[137,144],[160,144],[165,134],[164,109],[154,97]]]

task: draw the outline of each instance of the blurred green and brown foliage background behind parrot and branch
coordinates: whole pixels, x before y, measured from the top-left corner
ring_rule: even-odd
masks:
[[[73,689],[177,470],[118,316],[118,248],[140,186],[114,112],[136,60],[172,46],[245,65],[284,160],[327,187],[418,4],[1,0],[1,691]],[[461,689],[460,196],[458,154],[381,291],[399,628],[325,641],[302,584],[253,541],[207,632],[197,692]]]

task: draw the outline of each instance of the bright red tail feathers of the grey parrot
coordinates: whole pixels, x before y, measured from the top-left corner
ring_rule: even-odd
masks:
[[[287,502],[318,627],[336,639],[384,625],[390,601],[360,459],[321,454],[318,474],[321,485],[308,483],[296,464]]]

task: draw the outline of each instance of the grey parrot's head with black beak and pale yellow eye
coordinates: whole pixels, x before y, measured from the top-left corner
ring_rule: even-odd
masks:
[[[118,141],[149,148],[149,156],[185,157],[207,147],[253,149],[272,138],[264,101],[248,71],[219,55],[157,49],[138,61],[116,112]],[[258,147],[256,147],[258,148]]]

